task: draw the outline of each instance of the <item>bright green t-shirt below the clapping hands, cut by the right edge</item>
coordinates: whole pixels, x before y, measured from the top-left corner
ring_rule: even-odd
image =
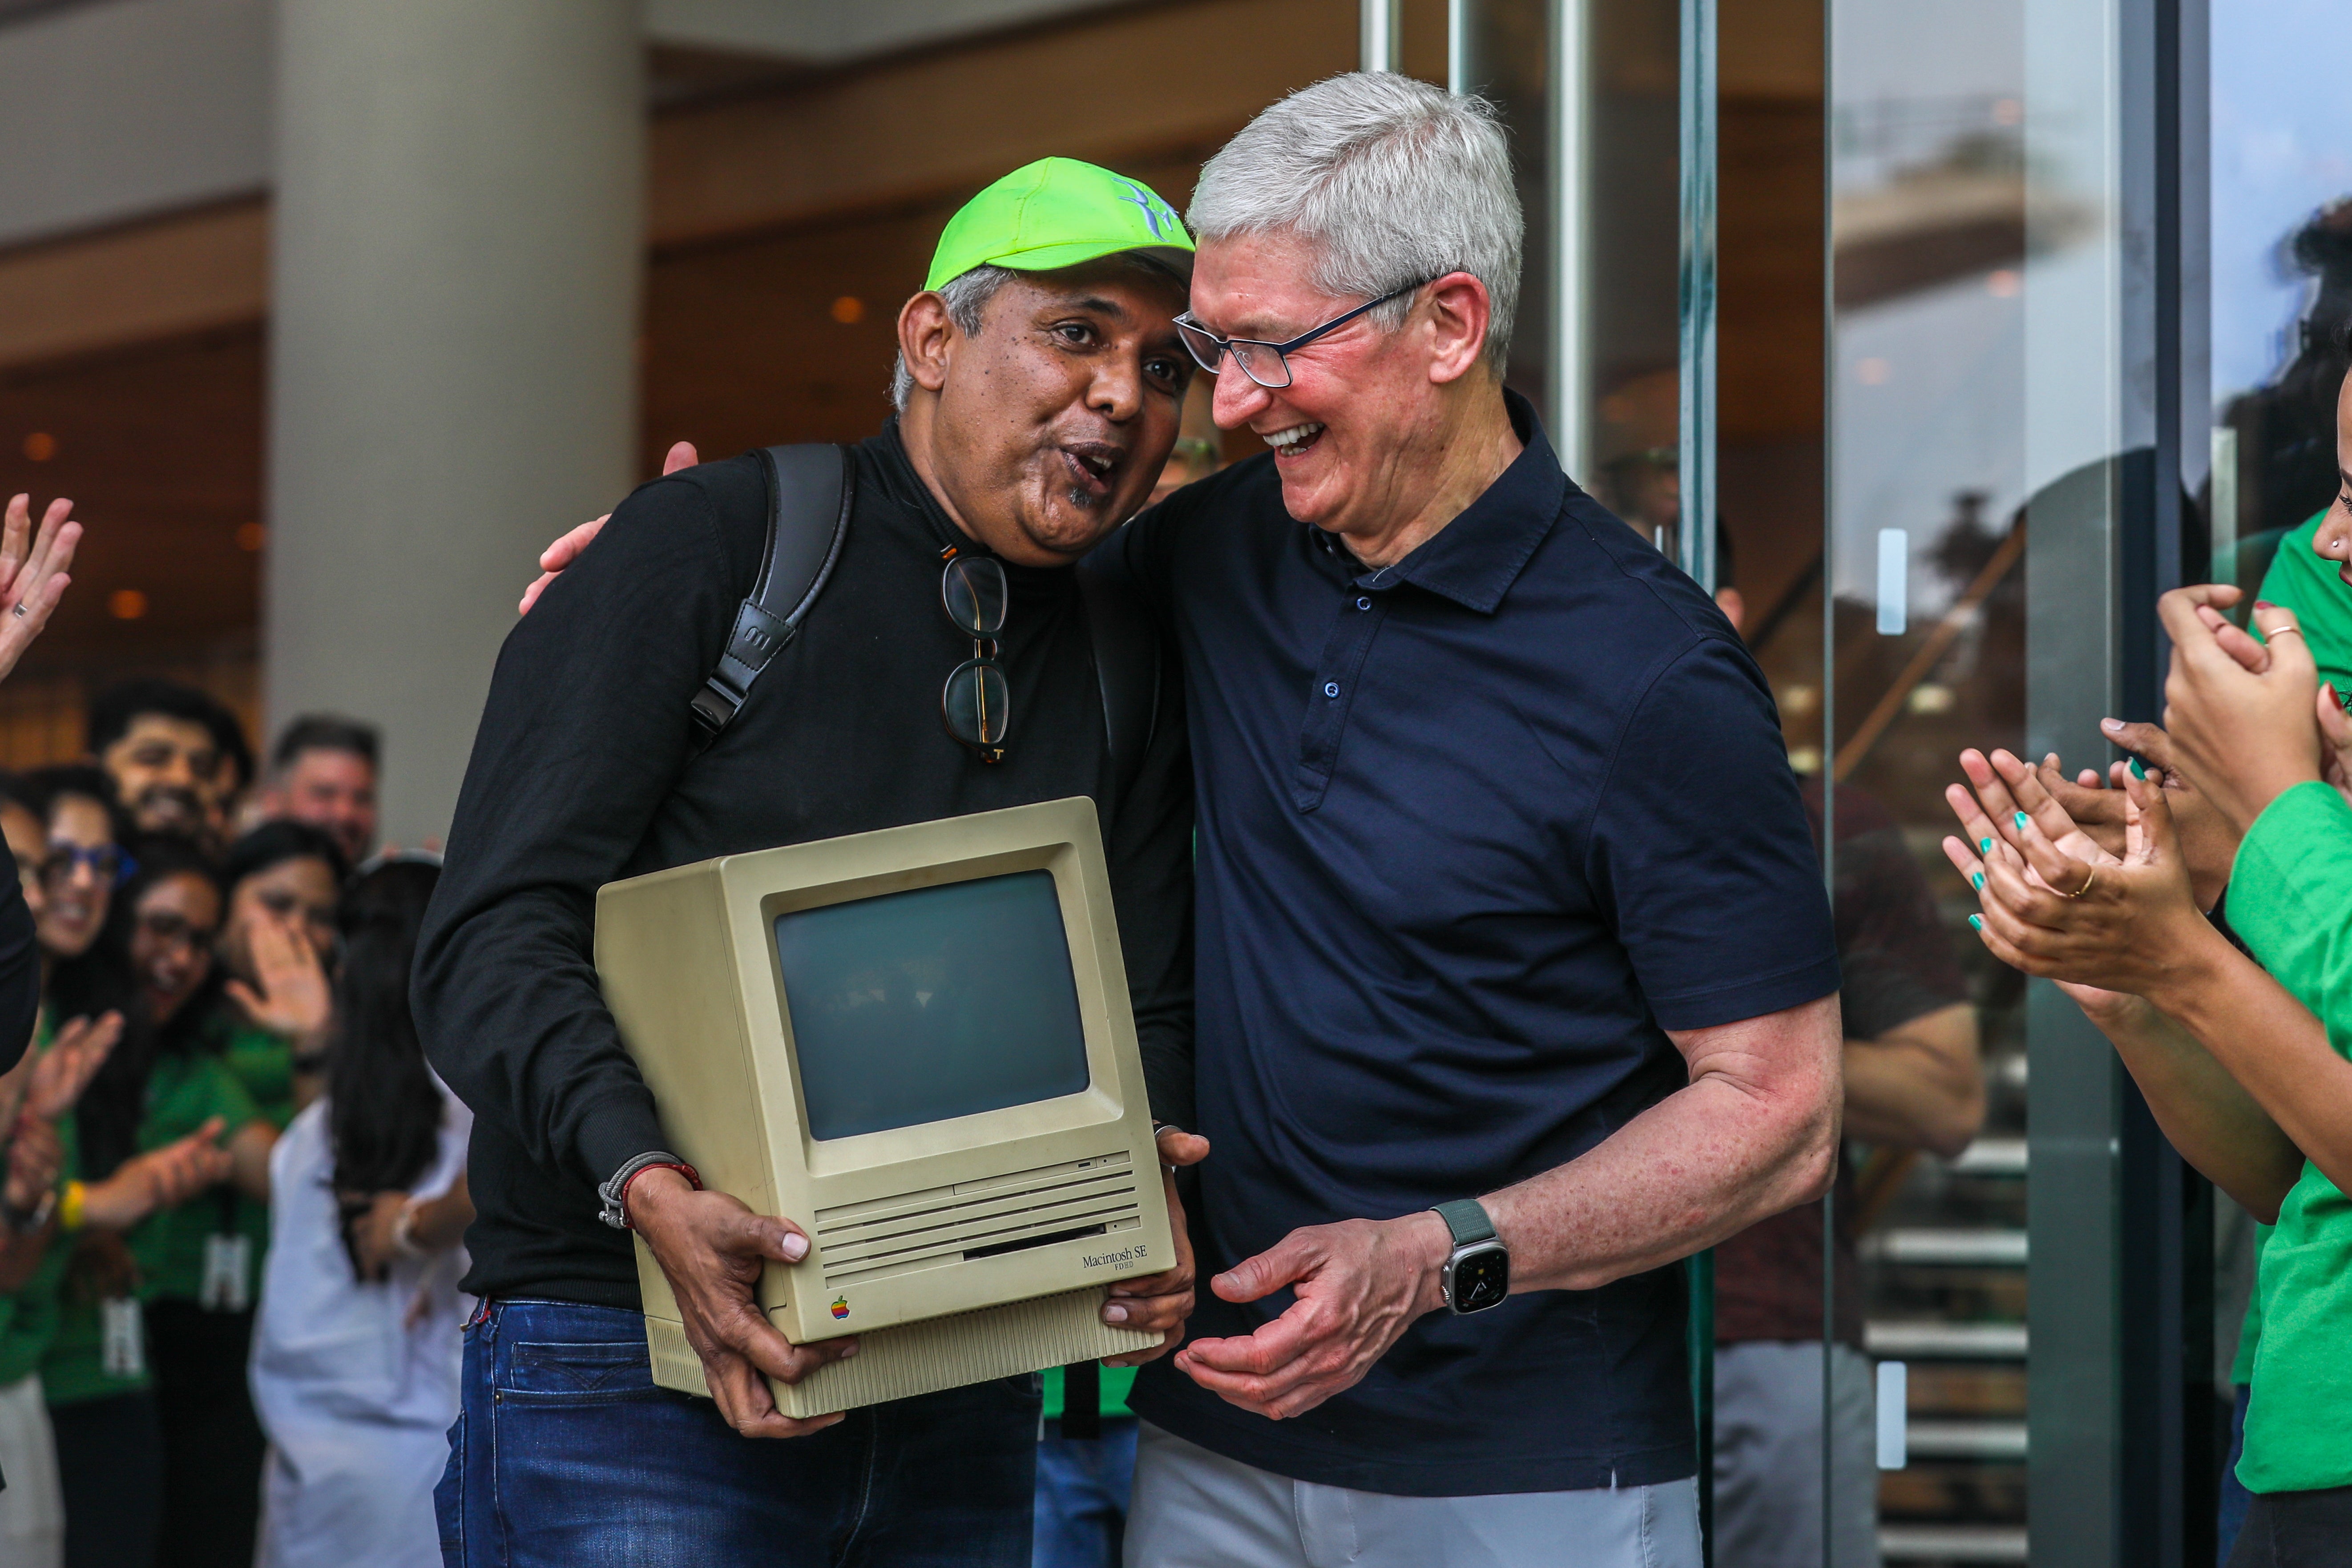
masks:
[[[2284,555],[2284,550],[2281,550]],[[2300,783],[2270,802],[2230,877],[2230,924],[2352,1056],[2352,804]],[[2251,1493],[2352,1486],[2352,1201],[2305,1161],[2256,1272],[2263,1324],[2237,1479]]]

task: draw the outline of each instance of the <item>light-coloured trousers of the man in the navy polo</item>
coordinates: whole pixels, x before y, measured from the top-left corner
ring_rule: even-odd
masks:
[[[1143,1422],[1127,1568],[1698,1568],[1698,1483],[1392,1497],[1291,1481]]]

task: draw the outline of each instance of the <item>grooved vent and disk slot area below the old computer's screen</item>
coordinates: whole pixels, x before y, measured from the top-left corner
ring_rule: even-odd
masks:
[[[818,1208],[816,1248],[833,1288],[1070,1232],[1129,1229],[1138,1220],[1136,1171],[1120,1152]]]

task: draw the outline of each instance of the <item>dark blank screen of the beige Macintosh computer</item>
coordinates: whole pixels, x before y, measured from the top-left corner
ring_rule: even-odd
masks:
[[[1054,872],[779,914],[776,959],[811,1138],[1087,1088]]]

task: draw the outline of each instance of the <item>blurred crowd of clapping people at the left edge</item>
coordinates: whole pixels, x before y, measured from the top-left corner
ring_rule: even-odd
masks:
[[[28,562],[12,503],[7,607],[68,529]],[[355,719],[256,766],[219,698],[134,679],[87,750],[0,776],[40,976],[0,1077],[0,1561],[407,1561],[402,1523],[437,1556],[473,1213],[407,1006],[437,856],[376,849]]]

